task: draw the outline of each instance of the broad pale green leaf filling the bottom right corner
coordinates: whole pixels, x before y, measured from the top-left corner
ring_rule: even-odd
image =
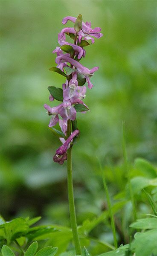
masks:
[[[157,230],[136,233],[134,238],[131,248],[135,250],[137,256],[157,255]]]

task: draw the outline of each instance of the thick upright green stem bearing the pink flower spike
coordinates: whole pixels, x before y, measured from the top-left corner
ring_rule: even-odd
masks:
[[[67,121],[67,138],[71,134],[71,121]],[[69,198],[69,212],[71,228],[73,232],[73,240],[75,244],[76,254],[81,255],[81,246],[78,237],[77,223],[76,223],[76,213],[73,195],[73,177],[72,177],[72,147],[67,151],[67,187],[68,187],[68,198]]]

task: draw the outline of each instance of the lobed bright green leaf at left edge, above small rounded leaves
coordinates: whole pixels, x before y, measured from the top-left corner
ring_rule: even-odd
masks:
[[[3,229],[2,234],[7,240],[7,244],[10,244],[10,241],[17,239],[20,236],[24,236],[29,230],[29,226],[23,218],[15,218],[12,221],[8,221],[0,225],[0,228]]]

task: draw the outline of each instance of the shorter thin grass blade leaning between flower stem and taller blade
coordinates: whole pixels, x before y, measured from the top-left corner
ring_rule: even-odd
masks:
[[[98,159],[98,161],[99,161],[99,159]],[[105,172],[102,170],[102,166],[101,166],[100,161],[99,161],[99,166],[100,166],[100,169],[102,171],[102,180],[103,180],[104,188],[105,188],[105,192],[106,192],[106,199],[107,199],[107,203],[108,203],[108,211],[110,213],[110,224],[111,224],[111,227],[112,227],[114,246],[117,248],[116,228],[115,228],[115,222],[114,222],[112,206],[111,206],[111,202],[110,202],[110,196],[109,196],[109,192],[108,192],[108,185],[106,183]]]

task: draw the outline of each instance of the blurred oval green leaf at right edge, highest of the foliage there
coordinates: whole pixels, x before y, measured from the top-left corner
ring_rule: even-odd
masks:
[[[135,167],[148,178],[156,178],[157,170],[147,160],[143,158],[135,159]]]

